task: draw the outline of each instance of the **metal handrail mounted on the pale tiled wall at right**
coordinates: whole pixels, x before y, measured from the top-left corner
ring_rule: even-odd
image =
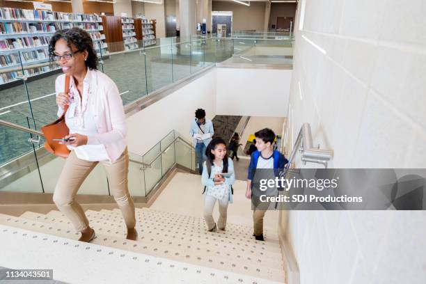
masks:
[[[290,165],[294,161],[294,157],[296,157],[296,153],[298,150],[299,152],[301,152],[301,160],[303,161],[303,164],[306,164],[306,162],[309,161],[311,163],[322,164],[326,168],[327,162],[331,159],[331,157],[333,157],[332,150],[319,149],[319,145],[318,148],[313,147],[310,124],[303,123],[299,131],[299,135],[297,136],[296,143],[294,143],[294,148],[292,150],[292,153],[290,154],[290,158],[288,159],[288,166],[283,172],[284,176],[289,170]]]

